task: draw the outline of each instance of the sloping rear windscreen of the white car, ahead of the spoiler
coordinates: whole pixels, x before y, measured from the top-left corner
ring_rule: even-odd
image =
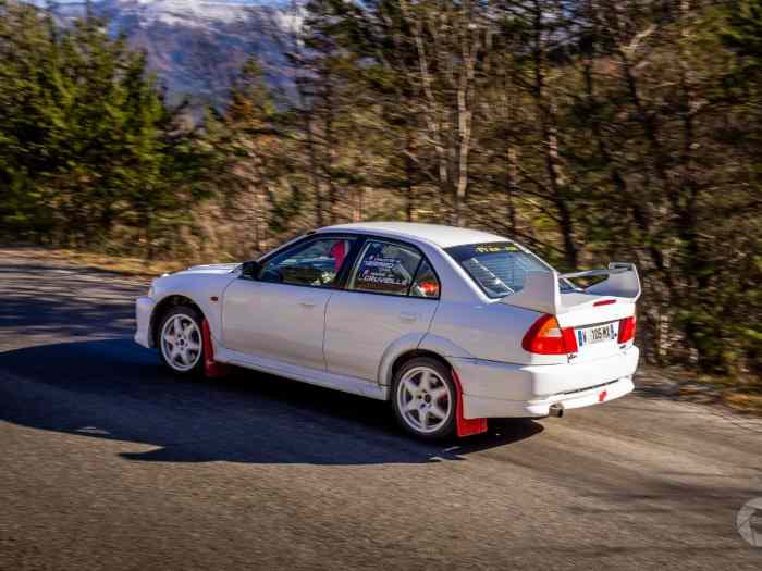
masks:
[[[509,241],[454,246],[445,251],[490,297],[520,291],[529,272],[551,271],[534,255]]]

